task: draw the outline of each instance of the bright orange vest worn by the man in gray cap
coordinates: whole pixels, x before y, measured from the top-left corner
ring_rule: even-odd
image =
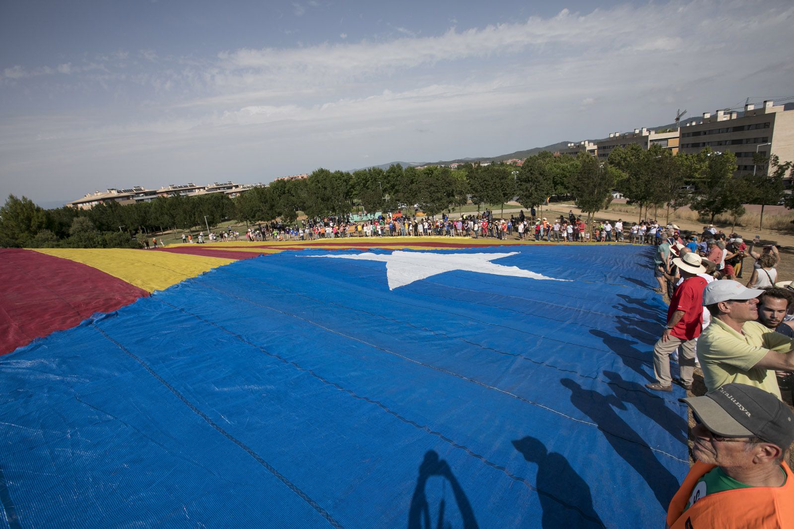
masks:
[[[794,474],[783,462],[786,482],[782,487],[750,487],[723,490],[697,500],[684,512],[695,484],[714,465],[695,462],[667,510],[670,529],[700,527],[754,527],[784,529],[794,527]]]

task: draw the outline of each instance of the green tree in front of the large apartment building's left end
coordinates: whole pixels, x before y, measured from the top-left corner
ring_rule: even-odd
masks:
[[[703,217],[714,217],[725,212],[738,211],[746,191],[746,181],[734,175],[736,156],[730,151],[715,152],[704,148],[696,163],[696,195],[692,209]]]

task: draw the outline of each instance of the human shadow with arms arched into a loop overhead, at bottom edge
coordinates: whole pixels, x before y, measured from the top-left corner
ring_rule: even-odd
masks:
[[[431,477],[441,478],[441,500],[438,502],[437,514],[430,512],[427,482]],[[449,484],[449,485],[448,485]],[[437,485],[437,484],[434,484]],[[434,489],[437,489],[434,486]],[[455,505],[449,512],[446,508],[446,490],[452,492]],[[438,492],[437,490],[435,492]],[[434,510],[436,510],[434,508]],[[438,458],[434,450],[428,450],[422,464],[419,466],[419,477],[416,480],[414,496],[410,499],[408,511],[408,529],[435,529],[435,527],[448,527],[450,520],[458,519],[463,523],[463,529],[477,529],[477,520],[474,518],[472,504],[468,502],[466,494],[457,482],[449,464]]]

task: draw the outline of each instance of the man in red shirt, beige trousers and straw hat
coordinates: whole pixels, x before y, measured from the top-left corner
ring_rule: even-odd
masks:
[[[670,377],[670,353],[680,347],[679,364],[681,378],[677,382],[685,389],[692,389],[692,374],[695,372],[695,339],[700,336],[703,321],[703,289],[707,282],[697,274],[706,267],[700,255],[686,253],[673,259],[684,281],[673,293],[667,309],[667,325],[661,338],[653,346],[653,374],[657,382],[646,384],[653,391],[673,391]]]

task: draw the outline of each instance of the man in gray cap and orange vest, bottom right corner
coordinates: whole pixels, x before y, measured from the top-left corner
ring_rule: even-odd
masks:
[[[726,384],[692,408],[696,463],[667,511],[666,527],[792,527],[794,474],[784,454],[794,413],[763,389]]]

